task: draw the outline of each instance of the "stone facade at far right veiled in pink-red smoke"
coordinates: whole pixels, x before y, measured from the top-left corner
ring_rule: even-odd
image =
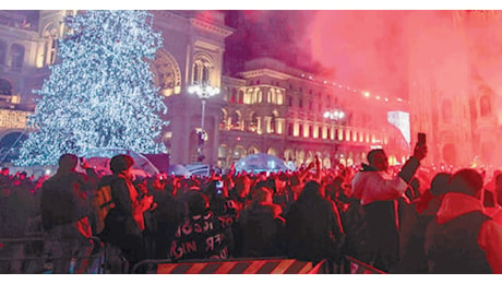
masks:
[[[427,132],[429,164],[502,166],[502,43],[498,11],[430,11],[409,19],[413,132]],[[419,28],[420,27],[420,28]],[[428,33],[420,33],[427,29]]]

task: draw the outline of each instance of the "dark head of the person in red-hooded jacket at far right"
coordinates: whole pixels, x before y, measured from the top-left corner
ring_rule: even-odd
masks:
[[[482,186],[481,174],[471,168],[464,168],[453,175],[450,181],[450,191],[479,197]]]

